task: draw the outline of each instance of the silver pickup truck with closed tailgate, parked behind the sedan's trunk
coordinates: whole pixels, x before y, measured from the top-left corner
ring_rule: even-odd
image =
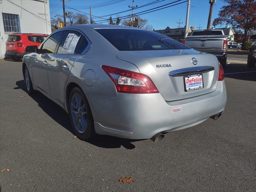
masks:
[[[223,68],[227,62],[228,42],[220,29],[195,30],[185,39],[185,44],[194,50],[214,54]]]

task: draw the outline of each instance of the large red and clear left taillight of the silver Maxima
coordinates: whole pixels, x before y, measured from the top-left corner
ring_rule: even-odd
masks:
[[[143,74],[110,66],[101,66],[120,93],[159,93],[152,80]]]

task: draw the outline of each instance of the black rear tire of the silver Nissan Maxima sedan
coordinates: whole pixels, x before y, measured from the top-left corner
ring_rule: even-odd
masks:
[[[81,119],[86,118],[86,120],[87,120],[86,129],[84,132],[79,132],[77,130],[76,127],[78,127],[78,124],[76,124],[76,126],[75,126],[73,123],[73,119],[72,119],[72,115],[73,115],[73,118],[75,116],[74,112],[71,112],[71,108],[74,108],[74,106],[72,106],[72,99],[73,99],[73,96],[77,96],[77,94],[82,98],[82,103],[85,105],[85,110],[86,110],[86,117],[85,116],[80,117]],[[73,111],[74,111],[74,109],[73,109]],[[92,116],[92,111],[90,109],[90,105],[88,103],[88,100],[86,99],[86,96],[84,95],[84,92],[78,87],[73,88],[69,94],[68,114],[70,117],[72,129],[75,132],[77,138],[79,138],[81,140],[91,140],[96,135],[95,130],[94,130],[94,120],[93,120],[93,116]],[[81,119],[79,119],[79,120],[81,120]],[[80,127],[82,127],[81,122],[80,122]]]

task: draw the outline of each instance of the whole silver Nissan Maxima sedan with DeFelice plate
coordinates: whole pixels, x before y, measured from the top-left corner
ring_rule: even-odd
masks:
[[[60,105],[82,140],[97,133],[157,141],[217,119],[226,105],[216,56],[153,31],[68,26],[26,51],[28,93],[38,90]]]

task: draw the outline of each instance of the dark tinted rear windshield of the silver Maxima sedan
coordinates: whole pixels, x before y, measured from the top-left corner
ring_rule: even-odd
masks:
[[[96,29],[120,51],[190,49],[162,34],[137,29]]]

